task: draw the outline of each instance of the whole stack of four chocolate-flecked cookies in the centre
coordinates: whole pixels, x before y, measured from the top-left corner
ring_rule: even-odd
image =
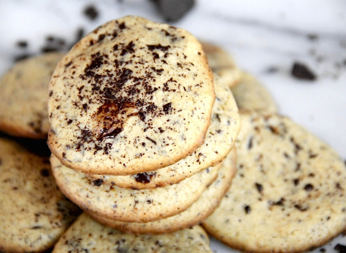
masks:
[[[48,113],[57,185],[125,232],[201,222],[235,174],[236,103],[183,29],[133,16],[100,26],[55,68]]]

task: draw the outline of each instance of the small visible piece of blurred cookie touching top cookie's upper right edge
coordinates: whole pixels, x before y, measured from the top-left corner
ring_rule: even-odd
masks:
[[[209,67],[229,87],[238,84],[240,80],[240,69],[234,62],[232,56],[221,47],[207,42],[201,42],[204,52],[207,54]]]

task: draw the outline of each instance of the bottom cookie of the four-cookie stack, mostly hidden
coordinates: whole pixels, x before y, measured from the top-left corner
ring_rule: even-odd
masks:
[[[222,162],[218,178],[203,191],[198,200],[184,212],[169,218],[148,223],[128,223],[113,221],[89,212],[88,214],[106,226],[132,234],[162,234],[192,227],[207,218],[220,204],[235,175],[235,163],[236,152],[232,150]]]

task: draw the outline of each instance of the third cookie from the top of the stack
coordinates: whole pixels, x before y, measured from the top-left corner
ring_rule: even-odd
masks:
[[[134,190],[91,180],[51,156],[53,175],[61,191],[83,210],[123,222],[149,222],[183,212],[216,179],[221,164],[171,186]]]

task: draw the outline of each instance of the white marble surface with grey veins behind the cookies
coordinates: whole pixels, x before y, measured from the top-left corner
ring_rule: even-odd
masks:
[[[91,1],[0,1],[0,74],[13,56],[37,53],[53,35],[74,41],[75,31],[89,32],[110,19],[140,15],[164,21],[150,1],[95,1],[99,17],[83,15]],[[309,129],[346,159],[346,1],[197,1],[179,22],[196,37],[226,48],[238,65],[259,78],[280,107],[280,112]],[[308,35],[317,35],[309,39]],[[18,40],[27,40],[23,50]],[[308,65],[316,81],[291,76],[295,61]],[[276,68],[274,73],[268,72]],[[346,244],[346,237],[338,242]],[[232,252],[212,240],[214,252]],[[329,246],[328,252],[336,252]],[[330,249],[330,250],[329,250]],[[319,252],[316,250],[316,252]]]

